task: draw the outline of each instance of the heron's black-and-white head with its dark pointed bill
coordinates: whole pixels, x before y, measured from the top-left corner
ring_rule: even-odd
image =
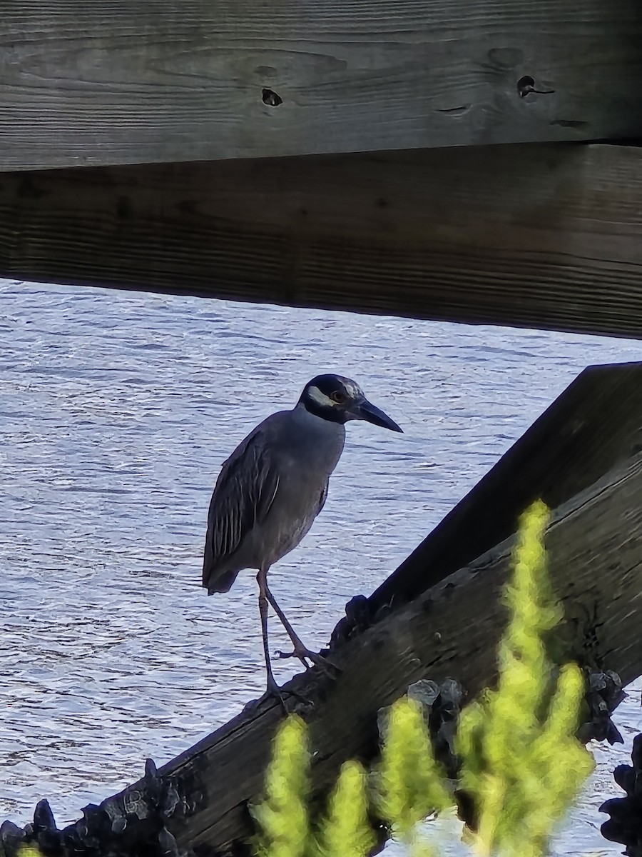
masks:
[[[312,378],[304,387],[299,404],[306,411],[330,423],[366,420],[376,426],[389,428],[390,431],[403,431],[394,420],[366,399],[359,384],[342,375],[317,375]]]

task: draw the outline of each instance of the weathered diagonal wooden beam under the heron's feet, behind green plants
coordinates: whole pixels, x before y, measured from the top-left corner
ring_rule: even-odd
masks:
[[[472,696],[492,683],[512,547],[512,539],[503,542],[350,640],[336,653],[342,666],[336,683],[314,671],[289,684],[313,701],[299,710],[311,728],[317,797],[330,788],[345,759],[372,760],[377,710],[409,684],[455,676]],[[547,547],[574,656],[614,669],[624,682],[633,680],[642,667],[642,455],[562,506]],[[247,801],[259,799],[280,716],[278,707],[249,710],[163,767],[161,773],[173,776],[196,803],[187,818],[169,819],[181,852],[242,853],[239,842],[252,832]],[[141,789],[134,783],[101,806],[116,810],[128,795],[137,800]],[[129,818],[123,836],[134,851],[141,844],[137,834],[147,842],[149,824]]]

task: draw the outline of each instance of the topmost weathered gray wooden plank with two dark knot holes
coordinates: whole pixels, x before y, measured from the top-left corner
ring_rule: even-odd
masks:
[[[0,170],[633,137],[641,42],[639,0],[9,0]]]

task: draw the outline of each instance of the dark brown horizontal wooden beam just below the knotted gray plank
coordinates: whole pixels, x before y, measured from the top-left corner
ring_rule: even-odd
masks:
[[[640,211],[637,147],[7,173],[0,276],[639,337]]]

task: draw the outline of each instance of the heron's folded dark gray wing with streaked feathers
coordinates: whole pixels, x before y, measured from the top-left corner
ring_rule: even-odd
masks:
[[[265,434],[256,431],[235,449],[218,475],[207,516],[203,585],[211,586],[225,560],[241,546],[274,502],[279,478]]]

